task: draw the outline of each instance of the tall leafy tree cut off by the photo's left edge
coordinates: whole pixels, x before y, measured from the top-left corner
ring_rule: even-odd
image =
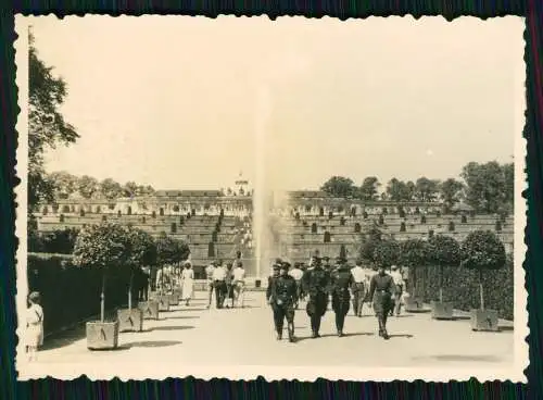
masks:
[[[28,209],[51,201],[53,187],[43,168],[43,153],[59,143],[71,145],[79,137],[60,112],[67,96],[66,83],[38,57],[31,30],[28,33]]]

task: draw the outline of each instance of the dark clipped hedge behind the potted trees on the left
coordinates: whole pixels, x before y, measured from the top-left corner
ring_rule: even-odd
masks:
[[[46,335],[100,315],[101,271],[73,264],[65,254],[29,253],[28,289],[39,291]],[[127,268],[112,272],[106,279],[105,309],[128,302]],[[98,316],[99,317],[99,316]]]

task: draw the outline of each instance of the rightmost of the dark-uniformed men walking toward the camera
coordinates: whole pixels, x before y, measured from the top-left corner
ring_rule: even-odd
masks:
[[[383,266],[380,266],[378,273],[371,277],[369,284],[369,298],[374,302],[374,311],[379,322],[379,336],[389,338],[387,333],[387,318],[392,308],[392,291],[394,290],[394,280],[387,274]]]

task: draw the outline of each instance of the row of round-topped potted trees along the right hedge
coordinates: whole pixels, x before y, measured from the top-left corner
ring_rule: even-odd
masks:
[[[497,270],[505,265],[505,247],[492,232],[475,230],[459,243],[454,238],[437,235],[428,241],[408,239],[396,241],[382,236],[374,227],[365,236],[361,247],[361,258],[376,266],[390,267],[393,264],[408,266],[416,282],[419,267],[435,266],[440,270],[439,298],[443,301],[443,268],[463,266],[479,273],[481,309],[484,309],[482,274],[484,270]],[[413,296],[416,296],[414,287]]]

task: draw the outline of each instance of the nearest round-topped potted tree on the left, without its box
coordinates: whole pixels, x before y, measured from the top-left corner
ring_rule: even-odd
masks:
[[[105,279],[112,268],[126,264],[129,248],[126,229],[118,224],[102,223],[81,229],[74,248],[75,262],[81,266],[102,270],[100,321],[104,322]]]

